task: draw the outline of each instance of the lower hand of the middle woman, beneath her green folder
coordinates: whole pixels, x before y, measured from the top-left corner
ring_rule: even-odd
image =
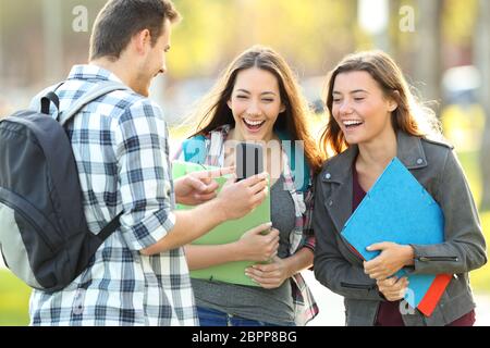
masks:
[[[271,263],[254,264],[245,269],[245,275],[266,289],[278,288],[291,277],[286,262],[279,257],[273,257]]]

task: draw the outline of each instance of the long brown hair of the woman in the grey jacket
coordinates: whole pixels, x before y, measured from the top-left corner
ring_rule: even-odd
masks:
[[[348,147],[332,114],[333,85],[339,74],[356,71],[367,72],[378,83],[384,97],[396,101],[397,108],[391,114],[395,132],[402,130],[418,137],[440,137],[440,125],[434,113],[417,102],[393,59],[382,51],[364,51],[346,55],[329,74],[326,103],[330,117],[320,138],[324,153],[333,151],[332,154],[338,154]]]

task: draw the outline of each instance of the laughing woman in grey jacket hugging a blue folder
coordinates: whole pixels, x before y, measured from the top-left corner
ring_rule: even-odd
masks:
[[[475,302],[468,272],[487,262],[478,212],[452,148],[441,138],[433,114],[420,108],[393,60],[380,51],[342,60],[331,72],[330,120],[322,146],[336,154],[317,178],[314,231],[315,275],[345,297],[347,325],[473,325]],[[340,232],[351,213],[397,157],[438,201],[445,241],[438,245],[380,243],[369,262]],[[390,277],[402,268],[413,274],[454,274],[431,316],[400,311],[407,278]]]

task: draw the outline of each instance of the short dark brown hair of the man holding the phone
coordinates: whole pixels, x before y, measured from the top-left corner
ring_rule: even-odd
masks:
[[[110,0],[97,15],[90,37],[89,60],[118,60],[137,33],[148,29],[151,45],[163,34],[164,20],[179,22],[171,0]]]

